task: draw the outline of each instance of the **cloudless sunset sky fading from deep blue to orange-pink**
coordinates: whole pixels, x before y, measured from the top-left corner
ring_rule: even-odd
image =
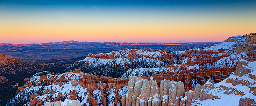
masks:
[[[256,0],[0,0],[1,43],[224,41],[256,32]]]

